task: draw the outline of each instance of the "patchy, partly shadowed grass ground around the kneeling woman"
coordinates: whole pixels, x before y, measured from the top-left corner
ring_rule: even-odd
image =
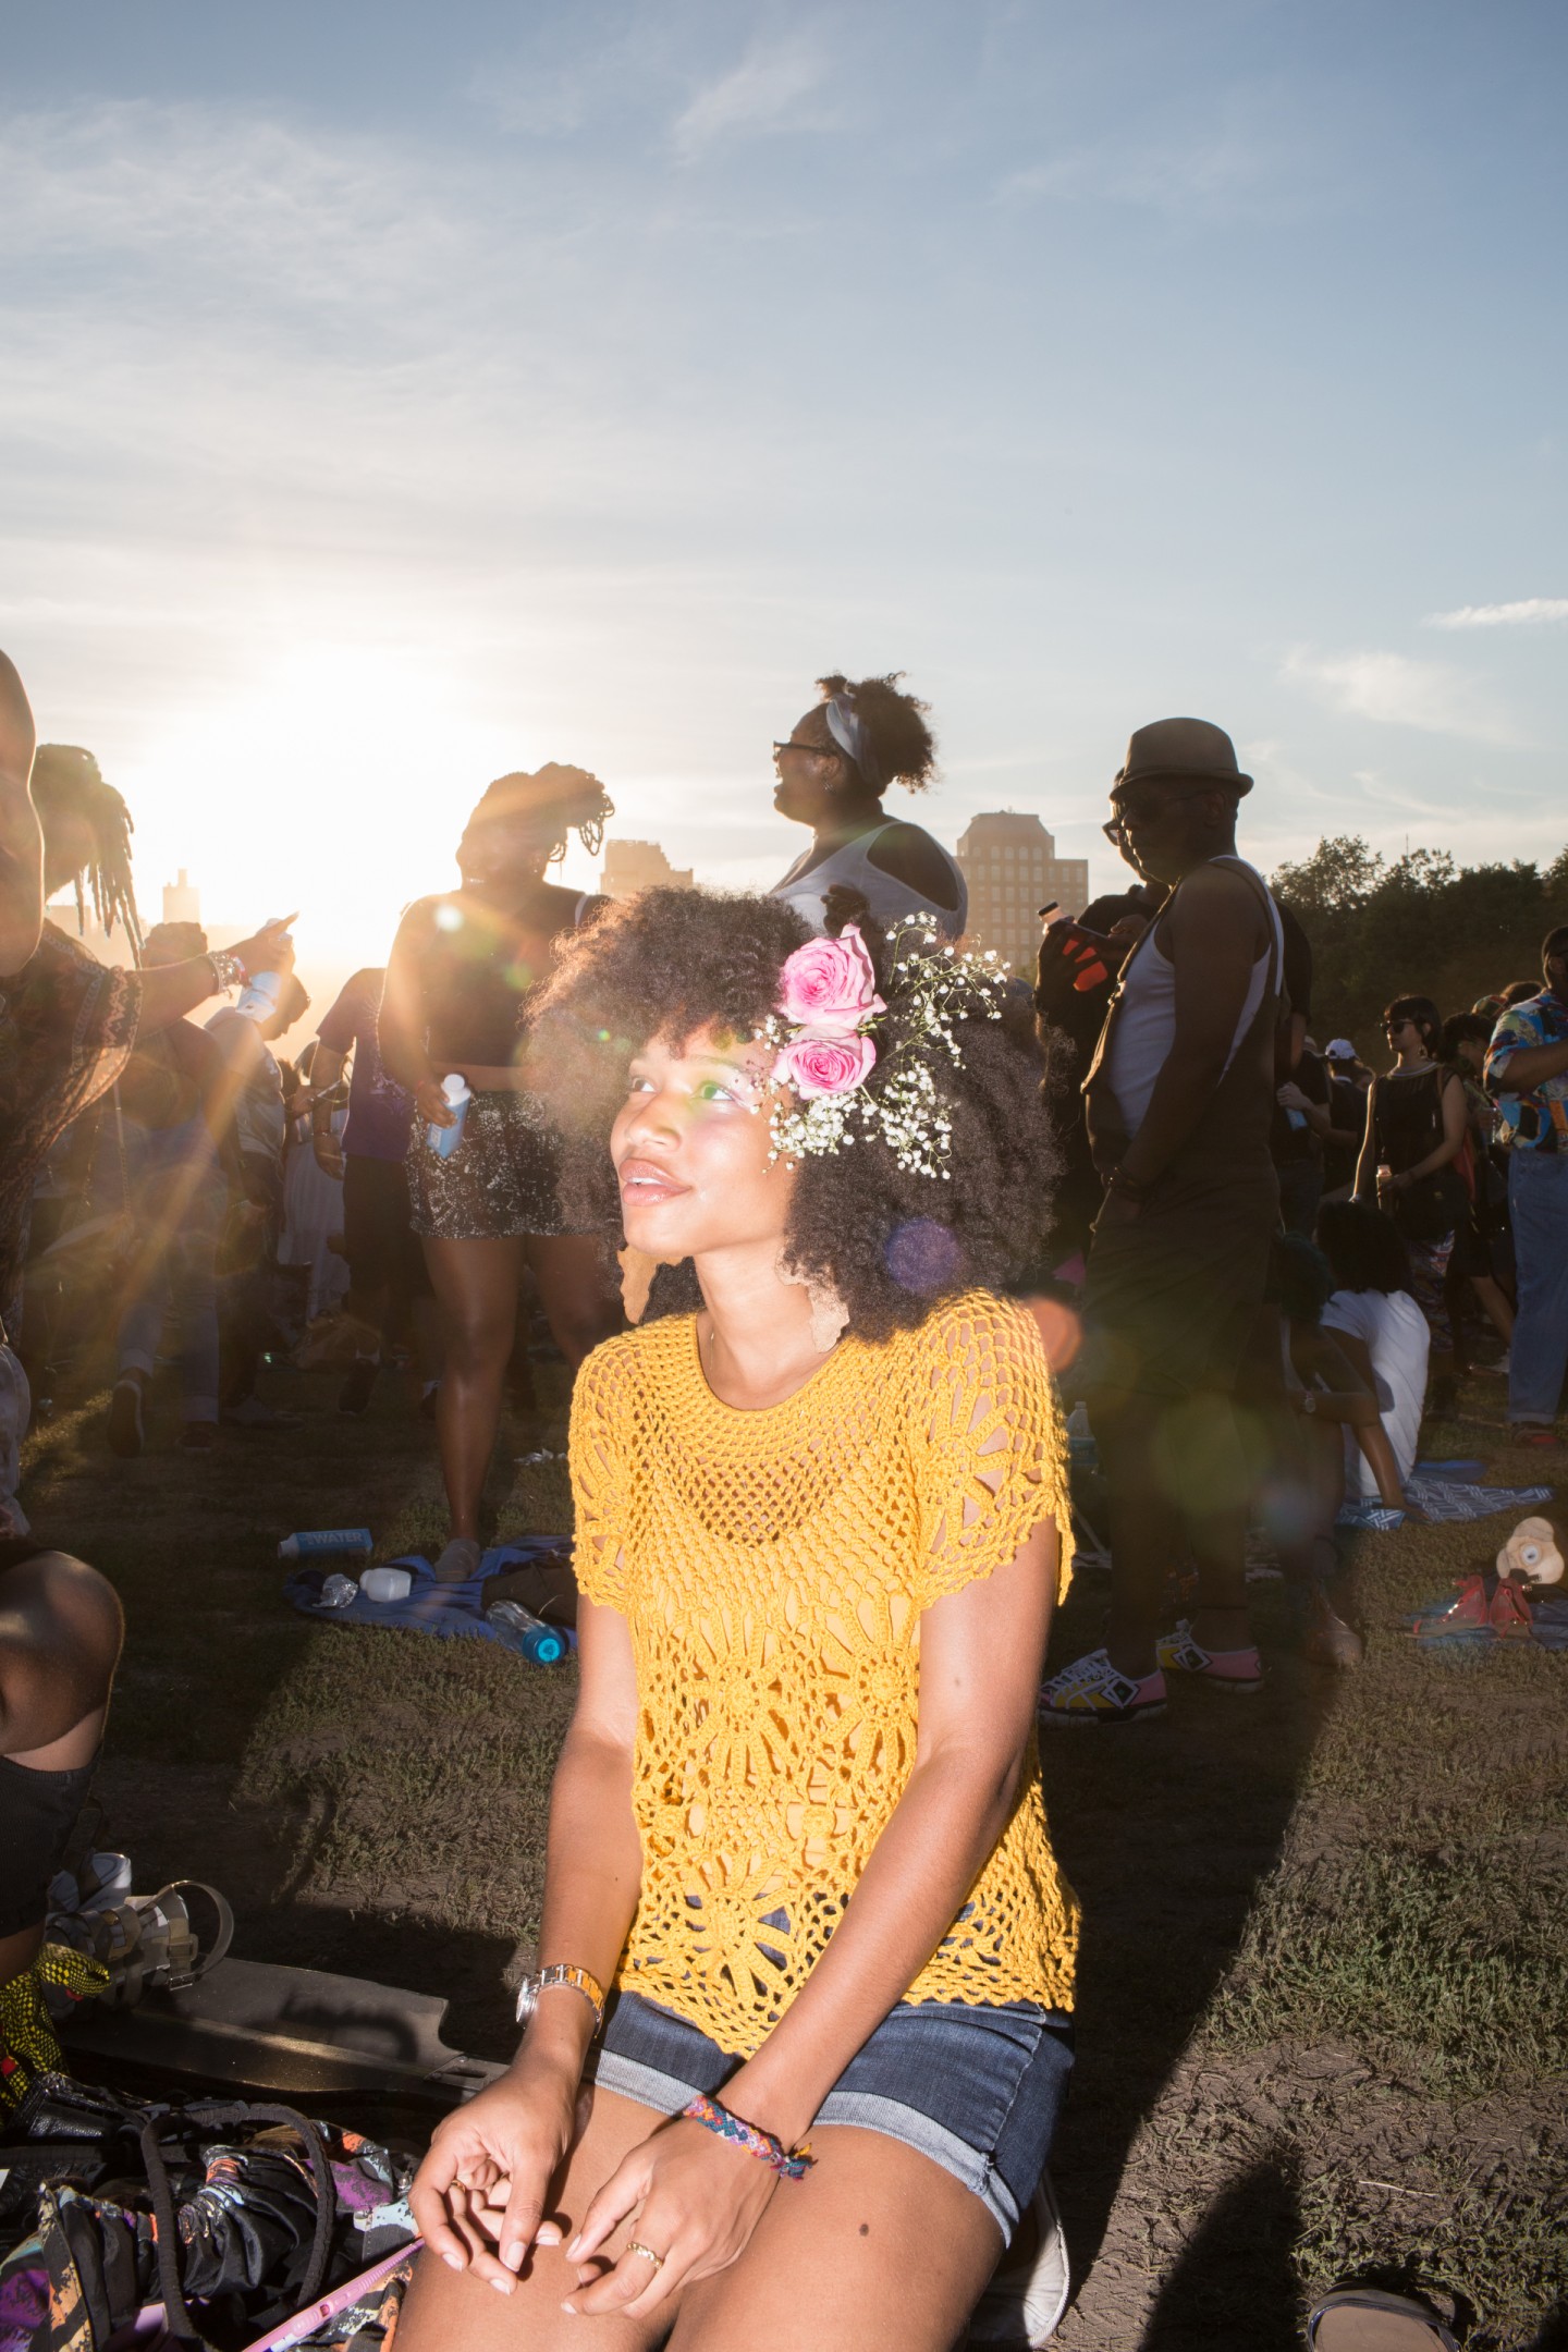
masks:
[[[223,1886],[240,1952],[444,1992],[449,2039],[503,2056],[574,1670],[292,1616],[282,1534],[364,1519],[381,1557],[435,1548],[440,1482],[397,1381],[343,1421],[334,1378],[263,1378],[299,1430],[202,1458],[160,1428],[115,1463],[99,1395],[28,1444],[40,1534],[129,1616],[103,1839],[139,1886]],[[564,1442],[550,1378],[557,1409],[503,1432],[501,1534],[569,1524],[564,1463],[515,1468]],[[1427,1451],[1542,1482],[1500,1404],[1474,1381]],[[1154,1724],[1048,1738],[1086,1912],[1053,2159],[1065,2352],[1298,2345],[1305,2300],[1347,2274],[1429,2288],[1474,2352],[1568,2345],[1568,1656],[1443,1658],[1399,1632],[1507,1526],[1363,1538],[1354,1675],[1302,1668],[1260,1581],[1258,1698],[1175,1691]],[[1060,1658],[1103,1604],[1084,1573]]]

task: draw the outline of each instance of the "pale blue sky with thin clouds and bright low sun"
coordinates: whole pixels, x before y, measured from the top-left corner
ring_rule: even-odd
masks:
[[[1171,713],[1265,868],[1568,837],[1556,0],[5,14],[0,642],[150,915],[378,962],[550,757],[769,884],[832,668],[1095,889]]]

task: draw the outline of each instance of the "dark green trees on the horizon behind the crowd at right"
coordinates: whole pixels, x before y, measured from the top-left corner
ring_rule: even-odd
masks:
[[[1394,997],[1458,1014],[1512,981],[1540,985],[1542,936],[1568,922],[1568,847],[1544,870],[1523,858],[1460,866],[1446,849],[1387,863],[1342,833],[1281,866],[1272,887],[1312,941],[1312,1035],[1349,1037],[1373,1061]]]

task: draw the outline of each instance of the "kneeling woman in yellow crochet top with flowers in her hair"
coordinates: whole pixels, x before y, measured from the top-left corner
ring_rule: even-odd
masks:
[[[691,891],[611,908],[541,997],[536,1084],[644,1319],[571,1409],[583,1684],[529,2030],[418,2173],[400,2352],[945,2352],[1039,2197],[1070,1510],[1004,1296],[1048,1145],[997,1004],[910,934],[872,962]]]

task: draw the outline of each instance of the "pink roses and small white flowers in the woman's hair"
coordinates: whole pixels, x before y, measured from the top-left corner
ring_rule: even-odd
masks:
[[[877,1136],[910,1176],[950,1181],[952,1120],[936,1068],[940,1056],[964,1065],[954,1023],[999,1021],[1006,981],[994,953],[959,955],[924,915],[903,917],[891,955],[896,1014],[877,995],[856,924],[785,962],[778,1011],[757,1030],[773,1047],[776,1160],[842,1152]]]

